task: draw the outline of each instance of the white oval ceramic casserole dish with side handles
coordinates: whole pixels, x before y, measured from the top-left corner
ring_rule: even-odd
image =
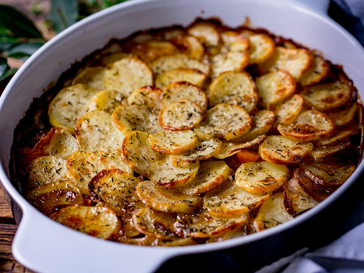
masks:
[[[134,0],[90,16],[45,44],[14,76],[0,102],[0,128],[3,132],[0,140],[0,179],[19,223],[13,245],[15,258],[38,272],[99,272],[115,271],[116,268],[120,271],[153,272],[174,256],[231,249],[274,238],[331,206],[358,180],[362,163],[328,199],[280,226],[208,245],[150,248],[102,241],[57,224],[38,212],[19,194],[9,174],[13,131],[33,98],[39,97],[49,85],[57,81],[71,64],[102,48],[110,38],[123,38],[141,29],[187,25],[197,17],[217,17],[226,25],[238,26],[248,17],[253,27],[266,28],[272,33],[292,38],[323,52],[333,63],[342,64],[360,95],[364,96],[364,51],[361,45],[328,18],[328,2],[312,1],[311,4],[315,5],[315,9],[292,0]],[[256,246],[258,248],[259,244]]]

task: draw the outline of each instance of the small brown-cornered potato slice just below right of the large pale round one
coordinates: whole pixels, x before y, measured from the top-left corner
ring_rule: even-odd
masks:
[[[143,86],[133,90],[127,102],[129,105],[139,105],[150,109],[160,109],[160,99],[162,90],[154,86]]]

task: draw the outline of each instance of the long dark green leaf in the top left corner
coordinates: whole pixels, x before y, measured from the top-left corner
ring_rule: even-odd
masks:
[[[3,34],[8,29],[13,37],[42,38],[42,34],[28,17],[7,5],[0,5],[0,29]]]

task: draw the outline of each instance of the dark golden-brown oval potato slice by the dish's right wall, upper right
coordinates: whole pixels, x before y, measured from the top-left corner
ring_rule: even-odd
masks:
[[[346,81],[316,84],[301,92],[305,102],[319,111],[327,111],[346,104],[351,99],[351,86]]]

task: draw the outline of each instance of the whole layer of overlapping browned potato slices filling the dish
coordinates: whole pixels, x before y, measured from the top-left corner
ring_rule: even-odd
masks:
[[[325,200],[361,159],[353,82],[264,29],[198,19],[111,40],[63,73],[19,122],[26,199],[120,243],[222,241]]]

